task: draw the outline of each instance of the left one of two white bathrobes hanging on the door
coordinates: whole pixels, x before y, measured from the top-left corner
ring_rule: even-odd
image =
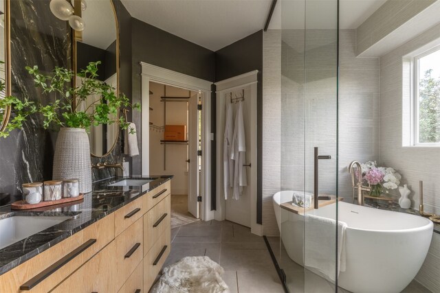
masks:
[[[225,200],[228,199],[234,183],[234,161],[230,159],[234,124],[232,122],[232,104],[226,100],[225,133],[223,137],[223,190]]]

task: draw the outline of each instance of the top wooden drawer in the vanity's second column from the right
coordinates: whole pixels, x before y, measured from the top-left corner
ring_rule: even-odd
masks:
[[[115,236],[120,235],[122,231],[144,215],[145,209],[142,198],[143,196],[115,211]]]

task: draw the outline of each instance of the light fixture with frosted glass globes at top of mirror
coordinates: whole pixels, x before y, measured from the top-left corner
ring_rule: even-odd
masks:
[[[51,0],[49,8],[56,18],[62,21],[69,21],[70,27],[77,32],[81,32],[85,29],[85,22],[80,16],[81,11],[87,8],[85,0],[81,0],[81,8],[77,12],[75,12],[74,4],[72,5],[66,0]]]

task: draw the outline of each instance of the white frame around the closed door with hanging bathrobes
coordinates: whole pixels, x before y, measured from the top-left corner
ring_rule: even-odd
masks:
[[[224,119],[225,119],[225,105],[223,103],[223,98],[225,93],[230,91],[235,91],[239,89],[244,89],[250,87],[251,95],[251,115],[250,115],[250,126],[251,129],[251,141],[257,141],[256,137],[256,105],[257,105],[257,75],[259,71],[254,70],[248,73],[243,73],[241,75],[234,76],[233,78],[228,78],[227,80],[221,80],[216,82],[216,104],[217,104],[217,211],[215,211],[215,220],[223,221],[225,220],[225,198],[223,196],[223,132],[224,132]],[[250,181],[254,182],[254,185],[250,185],[250,225],[251,232],[256,235],[262,235],[263,229],[262,225],[256,222],[256,201],[257,201],[257,174],[256,169],[258,167],[257,161],[257,144],[253,145],[255,151],[251,156],[252,167],[248,171],[248,176],[250,176]],[[248,177],[249,178],[249,177]]]

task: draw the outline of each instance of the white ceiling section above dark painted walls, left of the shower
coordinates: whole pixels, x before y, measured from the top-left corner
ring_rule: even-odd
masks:
[[[217,51],[263,29],[272,0],[122,0],[131,16]]]

